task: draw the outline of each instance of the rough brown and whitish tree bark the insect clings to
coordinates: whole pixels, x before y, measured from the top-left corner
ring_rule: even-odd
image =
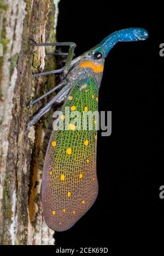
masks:
[[[53,234],[42,216],[40,185],[49,129],[46,115],[25,134],[26,124],[45,101],[27,107],[54,86],[55,78],[32,73],[55,68],[44,47],[55,42],[57,7],[52,0],[3,0],[0,3],[0,244],[52,245]],[[56,20],[56,19],[55,19]],[[49,114],[50,115],[50,114]]]

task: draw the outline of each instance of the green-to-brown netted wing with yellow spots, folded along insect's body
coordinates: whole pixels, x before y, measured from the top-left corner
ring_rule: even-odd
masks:
[[[98,110],[96,80],[88,76],[75,83],[63,106],[63,119],[65,107],[81,114]],[[69,130],[52,132],[43,171],[42,205],[45,222],[53,230],[71,228],[96,200],[95,123],[93,120],[93,130],[88,130],[88,125],[83,130],[81,120],[82,129],[77,130],[70,119]]]

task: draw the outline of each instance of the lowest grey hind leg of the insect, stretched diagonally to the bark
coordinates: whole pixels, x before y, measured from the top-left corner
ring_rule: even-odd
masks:
[[[52,105],[57,102],[58,98],[62,98],[63,96],[67,95],[69,93],[69,91],[71,90],[70,84],[66,85],[65,88],[63,88],[60,92],[58,92],[58,94],[52,98],[52,100],[45,105],[44,108],[40,109],[38,114],[34,115],[34,117],[32,118],[32,120],[27,124],[27,128],[26,131],[30,129],[30,127],[37,121],[39,120],[45,113],[47,113]]]

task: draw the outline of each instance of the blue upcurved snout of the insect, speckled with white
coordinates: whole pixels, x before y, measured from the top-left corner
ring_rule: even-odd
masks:
[[[106,57],[113,46],[118,42],[133,42],[148,38],[148,31],[144,28],[131,27],[109,34],[97,46],[102,49]]]

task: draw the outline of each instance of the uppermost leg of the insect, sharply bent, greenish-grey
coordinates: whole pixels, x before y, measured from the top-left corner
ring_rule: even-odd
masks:
[[[68,55],[67,55],[67,59],[66,59],[66,65],[62,69],[58,69],[58,70],[60,70],[60,72],[63,71],[64,76],[66,77],[66,75],[67,75],[67,73],[69,71],[69,68],[71,66],[71,61],[72,61],[73,56],[74,56],[74,48],[75,48],[76,44],[73,43],[73,42],[62,42],[62,43],[56,42],[56,43],[40,43],[40,44],[37,44],[37,42],[34,41],[32,38],[30,38],[30,39],[32,40],[32,42],[36,46],[69,46]],[[56,73],[56,72],[53,72],[53,73]],[[46,73],[46,74],[48,74],[48,73]]]

